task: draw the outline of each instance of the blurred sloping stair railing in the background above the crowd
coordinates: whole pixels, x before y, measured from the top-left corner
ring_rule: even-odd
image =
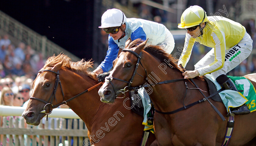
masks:
[[[67,50],[48,40],[47,37],[41,36],[40,34],[34,32],[2,11],[0,11],[0,30],[5,31],[19,41],[31,45],[33,49],[41,52],[44,57],[49,57],[53,54],[58,55],[59,53],[63,52],[73,61],[81,60]]]

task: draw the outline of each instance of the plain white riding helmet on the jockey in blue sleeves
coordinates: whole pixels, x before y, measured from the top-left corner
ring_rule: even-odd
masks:
[[[119,9],[108,9],[101,16],[101,26],[99,28],[117,27],[126,22],[126,16]]]

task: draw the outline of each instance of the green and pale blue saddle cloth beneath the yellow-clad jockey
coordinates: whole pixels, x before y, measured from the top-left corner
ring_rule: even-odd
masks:
[[[217,90],[222,87],[219,83],[212,77],[210,74],[204,75],[206,78],[211,80]],[[256,110],[256,91],[252,83],[244,77],[233,77],[228,76],[236,85],[237,90],[243,90],[243,92],[236,92],[233,90],[223,90],[219,93],[219,96],[222,99],[223,104],[226,106],[227,112],[229,112],[229,107],[238,107],[246,103],[250,111],[253,112]]]

